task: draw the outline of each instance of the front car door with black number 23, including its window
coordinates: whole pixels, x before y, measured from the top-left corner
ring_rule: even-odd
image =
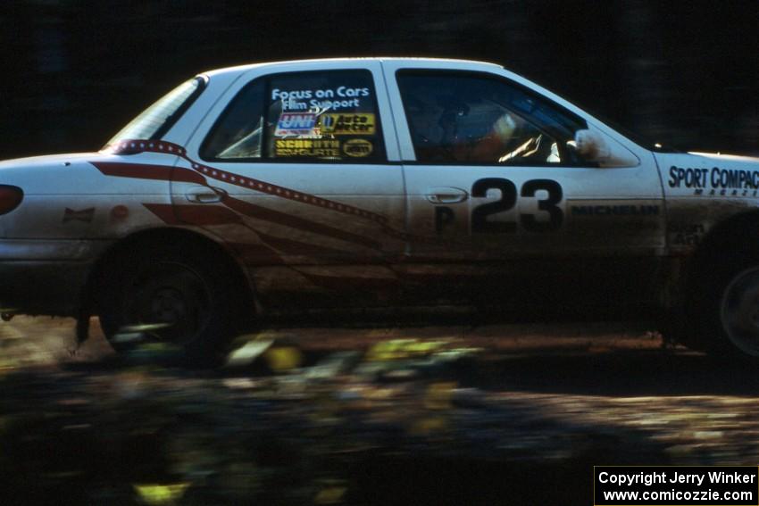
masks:
[[[445,279],[438,295],[484,303],[604,302],[621,286],[628,303],[646,299],[664,247],[653,156],[585,162],[571,141],[595,126],[580,114],[495,67],[449,65],[384,62],[404,160],[407,276]]]

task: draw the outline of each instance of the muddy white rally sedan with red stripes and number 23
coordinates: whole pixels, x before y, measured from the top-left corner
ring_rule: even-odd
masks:
[[[644,145],[494,64],[253,64],[98,153],[0,163],[0,307],[163,324],[203,360],[266,311],[614,306],[756,358],[757,192],[757,160]]]

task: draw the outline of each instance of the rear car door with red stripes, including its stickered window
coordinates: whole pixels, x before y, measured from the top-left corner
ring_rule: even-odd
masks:
[[[381,303],[396,288],[405,194],[381,76],[369,61],[254,68],[192,137],[202,179],[176,171],[177,220],[237,253],[264,304]]]

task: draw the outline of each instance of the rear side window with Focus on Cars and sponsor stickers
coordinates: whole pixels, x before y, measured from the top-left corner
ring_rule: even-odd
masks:
[[[384,159],[369,71],[305,71],[255,79],[201,147],[205,160],[376,162]]]

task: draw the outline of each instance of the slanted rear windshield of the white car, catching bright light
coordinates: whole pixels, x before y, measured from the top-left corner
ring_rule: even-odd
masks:
[[[179,116],[203,91],[206,79],[197,77],[183,82],[163,95],[157,102],[143,111],[137,118],[113,136],[105,145],[108,147],[120,139],[158,139],[163,137]]]

